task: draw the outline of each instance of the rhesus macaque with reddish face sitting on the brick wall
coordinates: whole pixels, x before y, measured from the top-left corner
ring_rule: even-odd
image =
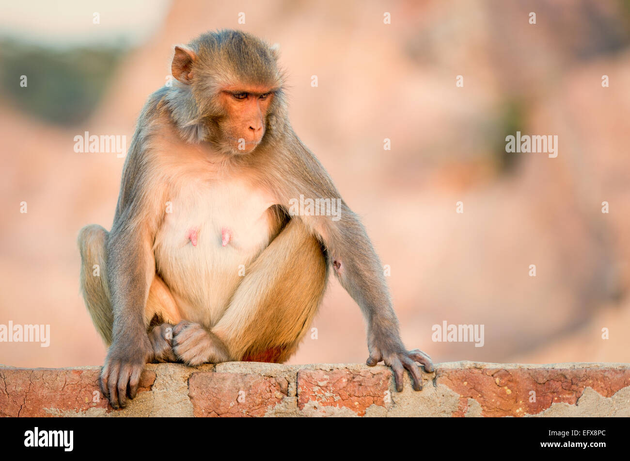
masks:
[[[176,80],[140,114],[112,230],[79,233],[85,302],[109,347],[101,387],[115,408],[134,398],[149,361],[287,360],[329,266],[364,313],[367,364],[391,366],[398,390],[404,368],[421,389],[416,361],[433,371],[401,342],[381,262],[345,202],[340,219],[289,213],[300,195],[340,194],[291,128],[277,59],[233,30],[175,47]]]

